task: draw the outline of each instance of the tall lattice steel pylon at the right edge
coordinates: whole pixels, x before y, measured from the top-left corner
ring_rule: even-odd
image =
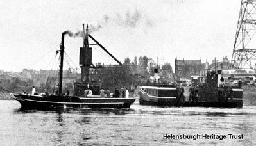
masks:
[[[252,69],[256,60],[256,0],[242,0],[235,33],[232,63]],[[255,66],[253,66],[255,67]]]

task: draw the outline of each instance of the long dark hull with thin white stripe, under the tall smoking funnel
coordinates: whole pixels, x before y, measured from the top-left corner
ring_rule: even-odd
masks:
[[[130,108],[136,98],[99,98],[60,95],[15,94],[13,97],[21,103],[22,109],[55,108]]]

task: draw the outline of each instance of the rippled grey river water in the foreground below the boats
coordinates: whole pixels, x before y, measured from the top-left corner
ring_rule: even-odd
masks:
[[[161,108],[136,102],[130,109],[20,108],[17,101],[0,100],[1,145],[256,145],[256,106]],[[168,139],[166,134],[200,137]]]

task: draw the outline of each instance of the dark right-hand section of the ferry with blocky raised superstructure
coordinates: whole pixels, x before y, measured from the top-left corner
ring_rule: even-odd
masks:
[[[182,106],[243,107],[242,82],[225,83],[221,70],[207,72],[205,83],[196,83],[189,88],[189,101]]]

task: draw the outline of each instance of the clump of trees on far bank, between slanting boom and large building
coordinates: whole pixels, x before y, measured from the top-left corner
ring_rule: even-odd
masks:
[[[147,56],[135,56],[133,60],[125,58],[123,66],[104,67],[98,70],[98,79],[103,86],[138,86],[146,83],[150,76],[154,76],[153,70],[158,69],[158,76],[162,83],[174,81],[173,68],[170,63],[157,65],[152,58]]]

